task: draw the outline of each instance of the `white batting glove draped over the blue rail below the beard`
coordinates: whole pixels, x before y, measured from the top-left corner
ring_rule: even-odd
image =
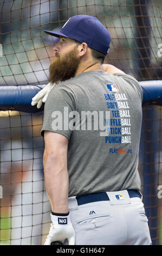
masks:
[[[37,108],[40,108],[42,106],[42,102],[46,102],[48,94],[53,88],[55,84],[48,83],[40,92],[38,92],[31,101],[31,106],[35,106],[37,104]]]

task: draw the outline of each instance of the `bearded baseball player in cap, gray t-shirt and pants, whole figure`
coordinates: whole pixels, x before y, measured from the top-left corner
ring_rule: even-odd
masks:
[[[76,15],[60,32],[45,32],[60,41],[50,83],[32,103],[46,101],[41,134],[51,226],[44,245],[151,245],[138,173],[139,83],[102,65],[111,36],[96,17]]]

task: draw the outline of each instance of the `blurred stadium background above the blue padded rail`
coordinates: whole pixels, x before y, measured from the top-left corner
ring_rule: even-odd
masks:
[[[70,16],[95,15],[112,37],[106,63],[138,80],[162,77],[160,0],[15,0],[0,1],[0,84],[48,82],[53,38],[43,31],[60,29]]]

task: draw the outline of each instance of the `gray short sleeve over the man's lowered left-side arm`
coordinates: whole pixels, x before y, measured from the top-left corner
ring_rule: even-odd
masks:
[[[75,110],[76,99],[73,91],[66,86],[55,86],[51,89],[44,105],[41,135],[44,137],[44,131],[51,131],[69,139],[73,131],[74,117],[72,116]]]

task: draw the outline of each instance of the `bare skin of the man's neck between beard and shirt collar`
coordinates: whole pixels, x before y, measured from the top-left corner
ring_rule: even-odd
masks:
[[[88,72],[88,71],[101,71],[103,70],[102,64],[101,63],[86,63],[86,65],[79,65],[75,76],[78,76],[82,74],[83,72]]]

